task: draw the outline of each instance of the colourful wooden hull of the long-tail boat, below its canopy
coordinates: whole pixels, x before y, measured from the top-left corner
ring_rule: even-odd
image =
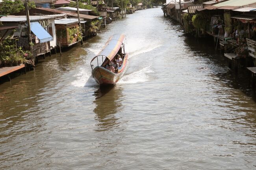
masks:
[[[98,82],[98,84],[100,84],[100,86],[116,84],[124,74],[124,70],[127,65],[127,58],[128,55],[124,57],[122,66],[118,68],[117,73],[113,73],[104,67],[96,66],[92,71],[93,78]]]

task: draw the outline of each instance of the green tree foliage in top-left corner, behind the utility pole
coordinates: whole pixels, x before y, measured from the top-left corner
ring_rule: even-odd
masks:
[[[28,7],[35,8],[35,2],[29,1]],[[13,13],[19,13],[25,10],[25,5],[20,0],[3,0],[2,7],[0,8],[0,15],[10,15]]]

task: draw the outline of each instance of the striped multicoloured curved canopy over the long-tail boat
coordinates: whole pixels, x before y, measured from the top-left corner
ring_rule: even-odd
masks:
[[[124,38],[125,36],[123,34],[112,35],[106,42],[104,48],[98,53],[96,57],[105,56],[109,60],[112,60],[115,57],[115,55],[118,53],[121,45],[123,44]]]

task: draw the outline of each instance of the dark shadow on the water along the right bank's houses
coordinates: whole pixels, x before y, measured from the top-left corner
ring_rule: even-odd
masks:
[[[212,37],[186,37],[184,42],[191,51],[195,51],[195,56],[206,59],[207,64],[213,65],[211,69],[219,79],[226,82],[228,86],[243,91],[243,93],[256,101],[256,93],[249,88],[250,73],[243,66],[243,61],[241,61],[238,73],[236,73],[233,69],[228,68],[228,58],[224,57],[224,52],[219,47],[215,50]]]

